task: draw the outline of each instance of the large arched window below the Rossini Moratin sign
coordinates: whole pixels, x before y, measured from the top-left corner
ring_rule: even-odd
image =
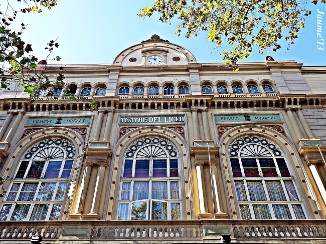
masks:
[[[246,136],[229,153],[242,219],[306,218],[284,154],[273,142]]]

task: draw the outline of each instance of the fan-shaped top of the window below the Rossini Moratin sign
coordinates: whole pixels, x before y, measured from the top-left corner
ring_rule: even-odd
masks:
[[[247,144],[247,145],[246,145]],[[241,151],[239,152],[239,149]],[[268,150],[268,149],[269,150]],[[271,152],[274,154],[272,155]],[[231,144],[231,157],[271,157],[283,156],[279,148],[271,141],[261,137],[242,137]]]

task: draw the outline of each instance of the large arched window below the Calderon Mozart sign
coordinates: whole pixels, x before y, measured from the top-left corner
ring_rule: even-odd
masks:
[[[64,139],[36,143],[22,156],[4,198],[0,220],[58,220],[75,148]]]

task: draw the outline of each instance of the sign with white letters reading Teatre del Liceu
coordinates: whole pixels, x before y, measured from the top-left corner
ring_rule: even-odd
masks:
[[[185,123],[185,116],[122,116],[120,124],[140,123]]]

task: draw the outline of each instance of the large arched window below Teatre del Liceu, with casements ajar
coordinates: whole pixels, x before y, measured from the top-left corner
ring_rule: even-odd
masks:
[[[117,219],[181,219],[178,158],[168,140],[133,143],[124,156]]]

